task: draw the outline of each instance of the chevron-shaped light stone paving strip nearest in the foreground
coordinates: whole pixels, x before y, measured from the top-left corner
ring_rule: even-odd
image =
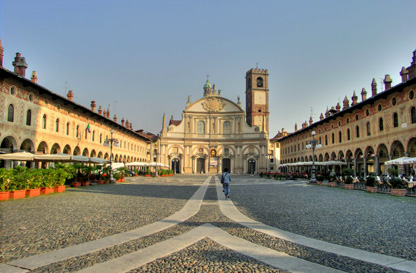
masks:
[[[175,251],[184,249],[203,238],[210,238],[217,243],[238,253],[254,258],[279,269],[290,272],[331,273],[343,272],[323,265],[301,260],[287,254],[250,243],[244,239],[232,236],[211,224],[204,224],[181,236],[166,240],[145,249],[124,255],[84,270],[80,273],[112,273],[128,272],[134,268],[145,265],[157,258],[168,256]]]

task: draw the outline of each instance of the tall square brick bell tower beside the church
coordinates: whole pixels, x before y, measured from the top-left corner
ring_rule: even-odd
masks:
[[[246,119],[250,126],[269,132],[269,72],[252,68],[246,73]]]

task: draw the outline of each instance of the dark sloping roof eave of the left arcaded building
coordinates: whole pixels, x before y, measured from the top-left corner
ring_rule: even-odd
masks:
[[[39,85],[37,83],[34,83],[34,82],[32,82],[31,80],[29,80],[29,79],[27,79],[25,77],[22,77],[22,76],[20,76],[20,75],[18,75],[16,73],[14,73],[14,72],[12,72],[12,71],[4,68],[4,67],[0,67],[0,80],[6,79],[6,78],[12,78],[14,80],[23,82],[23,87],[32,87],[32,88],[36,89],[39,92],[39,94],[46,93],[46,94],[52,96],[52,98],[60,99],[60,100],[62,100],[64,102],[65,105],[71,105],[71,106],[73,106],[75,110],[76,109],[81,109],[84,113],[87,112],[92,117],[95,117],[95,118],[98,118],[98,119],[104,119],[105,122],[109,123],[112,126],[118,127],[118,129],[121,130],[121,131],[125,131],[125,132],[128,132],[128,133],[131,133],[134,136],[137,136],[139,138],[142,138],[145,141],[150,140],[150,139],[148,139],[148,138],[146,138],[146,137],[144,137],[142,135],[139,135],[138,133],[136,133],[133,130],[130,130],[130,129],[124,127],[124,126],[121,126],[121,124],[118,124],[117,122],[115,122],[115,121],[113,121],[113,120],[111,120],[111,119],[109,119],[109,118],[107,118],[105,116],[102,116],[102,115],[100,115],[100,114],[98,114],[98,113],[96,113],[94,111],[92,111],[91,109],[89,109],[89,108],[87,108],[87,107],[85,107],[85,106],[83,106],[81,104],[78,104],[76,102],[70,101],[67,98],[65,98],[65,97],[63,97],[63,96],[61,96],[61,95],[59,95],[57,93],[54,93],[54,92],[50,91],[49,89],[47,89],[47,88],[45,88],[45,87],[43,87],[43,86],[41,86],[41,85]]]

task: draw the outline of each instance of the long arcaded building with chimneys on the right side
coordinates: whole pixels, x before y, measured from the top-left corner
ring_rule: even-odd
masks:
[[[392,86],[389,75],[384,78],[384,91],[379,91],[373,79],[370,92],[361,90],[361,101],[354,92],[351,101],[345,97],[321,114],[320,120],[304,122],[302,128],[280,138],[281,169],[308,171],[312,150],[307,141],[315,138],[322,145],[315,149],[318,162],[339,161],[327,167],[339,171],[351,168],[359,175],[382,174],[384,162],[399,157],[416,157],[416,51],[409,67],[400,71],[402,82]],[[293,164],[297,163],[297,164]],[[407,170],[408,171],[408,170]]]

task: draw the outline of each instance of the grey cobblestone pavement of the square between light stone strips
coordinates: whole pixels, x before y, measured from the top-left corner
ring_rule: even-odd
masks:
[[[0,264],[0,271],[19,272],[11,271],[13,268],[18,270],[18,267],[7,266],[16,259],[105,239],[109,235],[163,221],[182,209],[206,179],[207,176],[183,175],[128,178],[122,184],[68,189],[64,194],[1,202],[0,262],[3,264]],[[238,210],[258,222],[337,245],[407,261],[416,260],[416,241],[412,232],[416,226],[416,214],[412,213],[416,208],[416,199],[309,186],[302,181],[280,182],[237,175],[233,176],[231,191],[232,202]],[[144,237],[21,272],[93,269],[93,266],[104,262],[116,261],[185,236],[206,223],[247,243],[329,268],[328,272],[403,272],[390,266],[341,256],[330,250],[306,247],[234,222],[219,209],[214,178],[199,211],[178,224]],[[278,263],[249,257],[224,244],[204,237],[126,271],[287,272]],[[6,271],[2,265],[7,266],[4,267]]]

